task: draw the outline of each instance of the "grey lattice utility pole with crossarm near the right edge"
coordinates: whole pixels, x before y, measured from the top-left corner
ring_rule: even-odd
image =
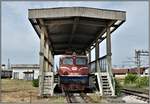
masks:
[[[148,51],[144,50],[135,50],[135,62],[138,69],[138,75],[140,76],[140,67],[141,67],[141,56],[149,56]]]

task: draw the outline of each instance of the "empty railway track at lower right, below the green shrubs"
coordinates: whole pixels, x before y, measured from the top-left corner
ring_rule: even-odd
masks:
[[[122,92],[125,94],[128,94],[128,95],[136,96],[137,99],[145,101],[147,103],[150,102],[149,95],[147,93],[143,93],[143,92],[135,91],[135,90],[130,90],[130,89],[123,89]]]

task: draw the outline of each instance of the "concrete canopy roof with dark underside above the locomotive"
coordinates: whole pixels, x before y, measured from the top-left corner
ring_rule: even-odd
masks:
[[[126,12],[85,7],[29,9],[29,20],[40,37],[45,36],[54,55],[66,50],[85,52],[106,38],[106,28],[111,33],[126,19]]]

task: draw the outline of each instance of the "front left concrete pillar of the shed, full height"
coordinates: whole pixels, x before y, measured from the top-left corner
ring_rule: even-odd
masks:
[[[41,29],[40,34],[40,70],[39,70],[39,96],[42,96],[43,92],[43,80],[44,80],[44,29]]]

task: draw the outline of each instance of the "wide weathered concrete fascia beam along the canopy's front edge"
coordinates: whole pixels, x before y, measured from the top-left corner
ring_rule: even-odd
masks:
[[[125,20],[126,12],[95,9],[85,7],[63,7],[48,9],[29,9],[29,18],[67,18],[67,17],[89,17],[98,19]]]

